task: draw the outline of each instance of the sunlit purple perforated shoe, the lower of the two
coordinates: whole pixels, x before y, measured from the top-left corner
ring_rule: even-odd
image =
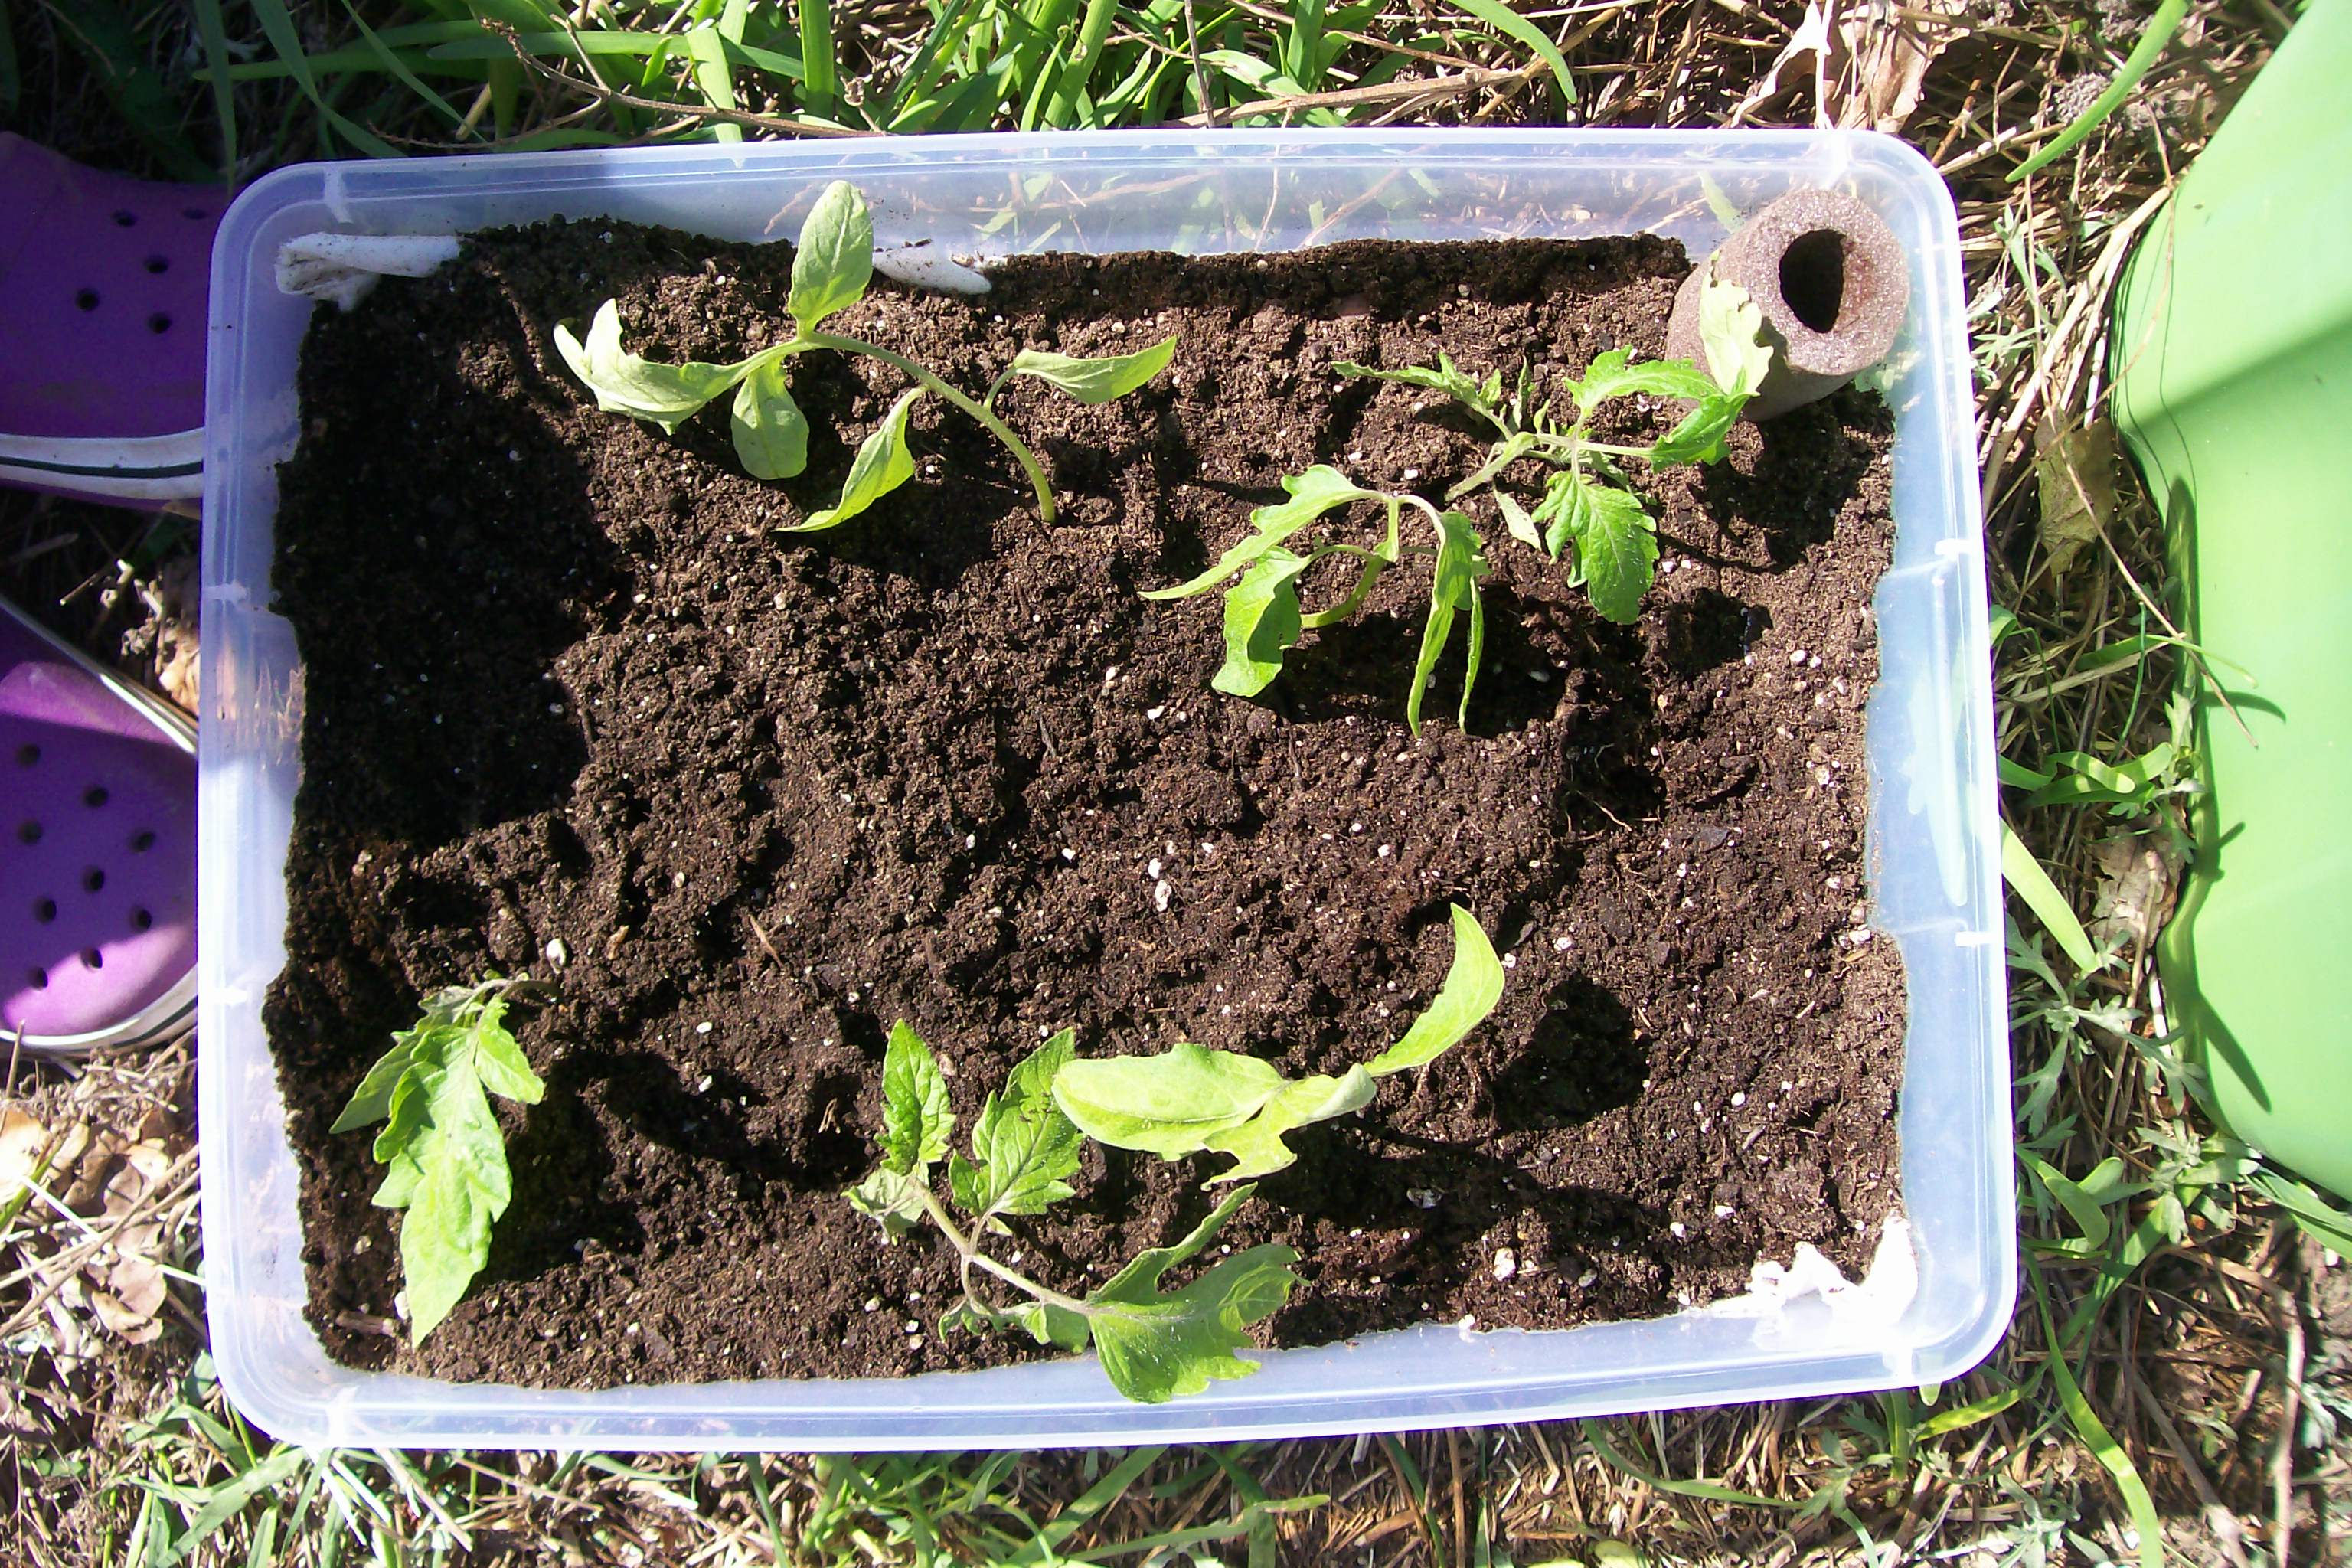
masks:
[[[195,729],[0,599],[0,1051],[195,1009]]]

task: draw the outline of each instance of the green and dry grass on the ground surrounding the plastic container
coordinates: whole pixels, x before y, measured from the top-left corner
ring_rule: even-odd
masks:
[[[1872,99],[1853,59],[1825,73],[1825,103],[1811,56],[1776,73],[1802,21],[1788,0],[35,0],[5,16],[0,113],[94,162],[193,160],[219,179],[350,153],[1247,120],[1802,125],[1900,101]],[[2157,16],[2131,0],[2020,0],[1933,33],[1945,47],[1903,125],[1962,214],[2020,893],[2025,1281],[1983,1368],[1863,1399],[1256,1448],[294,1450],[247,1429],[209,1380],[193,1197],[167,1180],[96,1244],[71,1192],[0,1204],[0,1500],[21,1559],[1778,1568],[2161,1554],[2237,1568],[2340,1552],[2352,1366],[2317,1328],[2314,1302],[2343,1286],[2314,1237],[2343,1251],[2347,1220],[2216,1135],[2150,961],[2187,788],[2176,693],[2227,649],[2178,642],[2157,515],[2098,435],[2105,303],[2129,240],[2286,26],[2274,0],[2166,0]],[[2164,47],[2143,42],[2166,28]],[[2145,75],[2114,94],[2126,68]],[[2122,101],[2067,141],[2103,94]],[[2046,167],[2013,183],[2037,150]],[[0,498],[0,588],[85,646],[167,642],[160,574],[183,550],[174,520]],[[2136,867],[2150,872],[2140,912],[2103,907],[2103,886]],[[71,1074],[12,1065],[5,1093],[47,1128],[113,1128],[179,1159],[186,1065],[186,1046]],[[87,1293],[89,1262],[127,1241],[165,1269],[143,1345],[106,1328]]]

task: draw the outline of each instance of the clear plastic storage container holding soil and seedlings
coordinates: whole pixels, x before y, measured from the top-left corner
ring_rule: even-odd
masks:
[[[1164,1406],[1091,1359],[906,1380],[546,1392],[332,1363],[303,1321],[294,1159],[261,997],[285,964],[285,853],[303,670],[270,614],[275,463],[296,437],[310,303],[278,244],[315,230],[452,235],[616,216],[729,240],[790,235],[830,179],[882,242],[1282,252],[1355,237],[1656,230],[1693,256],[1783,190],[1870,202],[1912,261],[1884,371],[1896,562],[1870,703],[1872,907],[1910,971],[1903,1190],[1917,1291],[1863,1321],[1820,1298],[1555,1333],[1418,1326],[1263,1356]],[[1033,1448],[1268,1439],[1785,1399],[1957,1378],[2016,1293],[2009,1058],[1985,564],[1959,235],[1936,172],[1846,132],[1221,132],[936,136],[310,165],[254,183],[212,261],[205,428],[202,1161],[212,1349],[238,1408],[303,1443],[527,1448]]]

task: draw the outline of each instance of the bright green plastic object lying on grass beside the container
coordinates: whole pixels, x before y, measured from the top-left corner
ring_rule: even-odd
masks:
[[[2166,1009],[2227,1126],[2336,1192],[2352,1192],[2347,80],[2352,0],[2319,0],[2140,240],[2112,339],[2183,630],[2230,661],[2209,668],[2237,710],[2201,686]]]

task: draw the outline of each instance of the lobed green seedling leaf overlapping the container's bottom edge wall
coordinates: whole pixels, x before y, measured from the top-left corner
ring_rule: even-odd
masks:
[[[1160,1276],[1200,1253],[1223,1229],[1256,1187],[1235,1187],[1207,1220],[1176,1246],[1138,1253],[1087,1298],[1087,1324],[1103,1359],[1103,1375],[1129,1399],[1164,1403],[1200,1394],[1211,1380],[1247,1378],[1258,1371],[1232,1352],[1249,1347],[1242,1333],[1289,1300],[1298,1276],[1298,1253],[1287,1246],[1254,1246],[1174,1293]]]

